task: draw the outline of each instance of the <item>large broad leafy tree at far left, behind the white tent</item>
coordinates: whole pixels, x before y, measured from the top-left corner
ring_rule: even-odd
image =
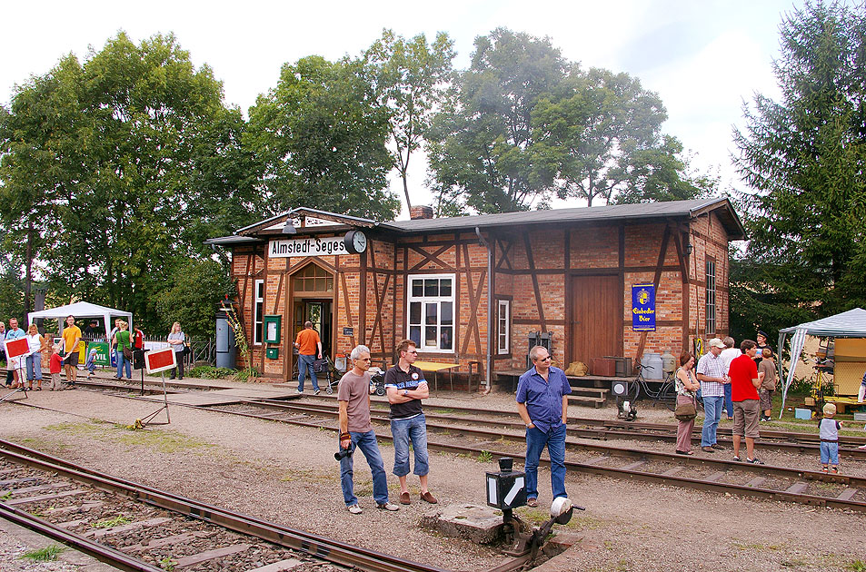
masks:
[[[229,199],[247,210],[254,199],[242,177],[203,182],[216,178],[220,122],[239,118],[222,95],[174,35],[136,45],[118,34],[84,63],[67,55],[19,87],[0,117],[0,221],[15,256],[31,228],[52,291],[155,325],[157,292],[201,255],[190,241],[205,232],[188,215],[219,189],[245,192],[246,202]]]

